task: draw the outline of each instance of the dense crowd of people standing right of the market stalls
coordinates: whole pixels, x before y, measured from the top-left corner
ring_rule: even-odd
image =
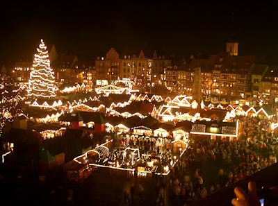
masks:
[[[237,117],[236,120],[240,123],[238,139],[191,140],[171,171],[169,191],[173,201],[190,203],[204,198],[277,162],[278,142],[270,120],[257,117]],[[218,182],[208,180],[204,164],[218,169]]]

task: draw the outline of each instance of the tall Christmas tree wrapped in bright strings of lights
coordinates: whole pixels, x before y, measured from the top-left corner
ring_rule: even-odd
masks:
[[[30,73],[28,96],[51,98],[56,96],[55,91],[58,88],[54,85],[54,71],[50,67],[47,46],[43,40],[40,42],[33,60],[34,70]]]

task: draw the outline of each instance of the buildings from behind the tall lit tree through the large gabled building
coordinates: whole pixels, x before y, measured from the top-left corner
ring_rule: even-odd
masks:
[[[56,47],[49,45],[49,60],[58,83],[84,83],[88,89],[93,85],[106,85],[118,78],[138,79],[141,82],[163,79],[165,68],[171,60],[150,49],[126,49],[121,55],[111,48],[106,55],[94,60],[79,60],[76,55],[58,55]],[[144,51],[143,51],[144,50]],[[33,70],[33,60],[15,62],[13,76],[27,81]]]

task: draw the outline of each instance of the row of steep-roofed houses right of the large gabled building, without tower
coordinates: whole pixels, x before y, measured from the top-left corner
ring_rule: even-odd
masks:
[[[257,64],[254,55],[238,56],[229,52],[210,55],[206,59],[191,58],[168,67],[165,69],[167,88],[192,95],[196,68],[201,68],[202,93],[209,98],[227,96],[278,100],[277,66]]]

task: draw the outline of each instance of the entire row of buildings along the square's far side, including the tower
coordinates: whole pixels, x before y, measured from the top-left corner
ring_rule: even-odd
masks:
[[[129,49],[120,54],[112,48],[90,61],[79,61],[76,55],[58,55],[54,45],[49,46],[49,51],[58,82],[72,84],[63,85],[61,92],[92,91],[95,85],[130,78],[148,87],[164,83],[167,89],[192,95],[195,69],[201,68],[202,93],[206,97],[278,100],[278,66],[258,64],[254,55],[238,55],[236,42],[227,43],[227,51],[208,58],[191,55],[188,60],[176,62],[149,49]],[[32,61],[16,62],[15,78],[27,81],[32,65]]]

